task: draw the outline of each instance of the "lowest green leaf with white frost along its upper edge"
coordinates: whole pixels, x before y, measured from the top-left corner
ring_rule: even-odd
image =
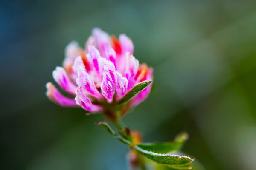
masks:
[[[191,169],[192,161],[194,161],[194,159],[191,159],[189,156],[155,153],[149,150],[144,150],[138,145],[136,145],[134,148],[146,158],[151,159],[158,164],[166,165],[174,169]]]

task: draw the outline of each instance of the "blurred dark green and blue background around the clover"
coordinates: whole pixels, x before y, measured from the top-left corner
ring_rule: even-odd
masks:
[[[255,0],[0,1],[0,169],[125,170],[128,148],[61,108],[46,82],[72,40],[125,33],[154,67],[154,91],[124,122],[145,142],[190,135],[206,170],[256,169]]]

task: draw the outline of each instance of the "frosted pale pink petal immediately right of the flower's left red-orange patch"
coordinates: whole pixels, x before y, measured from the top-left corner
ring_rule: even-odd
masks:
[[[95,70],[99,72],[99,62],[98,59],[102,58],[99,54],[99,51],[95,46],[88,46],[88,53],[86,55],[88,61],[90,62],[90,65],[93,65]]]

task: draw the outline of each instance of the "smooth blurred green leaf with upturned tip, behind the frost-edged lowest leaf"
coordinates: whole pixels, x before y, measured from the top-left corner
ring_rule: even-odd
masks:
[[[163,143],[141,143],[137,144],[143,150],[150,150],[155,153],[170,153],[176,150],[180,150],[184,142],[188,139],[187,133],[180,133],[174,140],[174,142]]]

